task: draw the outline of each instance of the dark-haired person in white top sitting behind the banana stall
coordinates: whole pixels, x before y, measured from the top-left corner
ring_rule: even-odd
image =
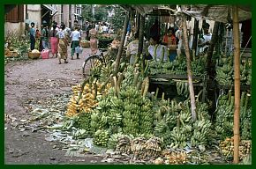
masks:
[[[158,36],[151,37],[149,40],[148,53],[153,57],[154,61],[168,62],[168,48],[160,44]]]

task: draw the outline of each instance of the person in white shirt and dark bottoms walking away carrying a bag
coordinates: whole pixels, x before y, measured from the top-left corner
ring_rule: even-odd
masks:
[[[81,40],[81,33],[79,33],[79,27],[75,26],[74,29],[75,30],[71,34],[71,38],[72,38],[72,45],[71,45],[72,60],[74,58],[73,56],[74,56],[74,53],[75,53],[75,48],[79,47],[79,43],[80,43],[80,40]],[[79,59],[79,53],[77,53],[77,59]]]

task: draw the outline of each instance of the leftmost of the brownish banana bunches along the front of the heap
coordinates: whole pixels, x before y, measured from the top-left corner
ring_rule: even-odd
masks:
[[[117,141],[117,153],[122,154],[130,154],[131,153],[131,137],[124,135],[124,136],[118,136]]]

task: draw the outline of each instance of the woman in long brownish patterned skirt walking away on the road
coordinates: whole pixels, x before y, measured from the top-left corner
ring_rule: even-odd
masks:
[[[58,38],[58,63],[61,64],[61,59],[64,59],[64,63],[67,62],[67,46],[68,46],[68,39],[67,39],[67,33],[64,31],[65,25],[62,24],[60,26],[60,30],[56,33],[56,36]]]

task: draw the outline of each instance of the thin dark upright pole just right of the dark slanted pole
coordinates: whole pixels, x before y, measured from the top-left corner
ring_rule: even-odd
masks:
[[[142,67],[145,69],[145,58],[140,58],[143,49],[143,38],[144,38],[144,27],[145,27],[145,17],[140,15],[140,23],[139,23],[139,47],[138,47],[138,57],[142,59]]]

